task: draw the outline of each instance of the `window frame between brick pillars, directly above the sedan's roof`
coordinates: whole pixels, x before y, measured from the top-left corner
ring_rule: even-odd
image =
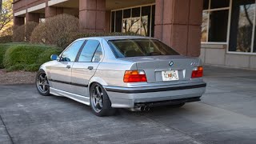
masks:
[[[113,33],[115,33],[116,31],[115,31],[115,22],[116,22],[116,11],[118,11],[118,10],[122,10],[122,33],[124,33],[124,31],[123,31],[123,20],[124,19],[128,19],[128,18],[123,18],[123,12],[124,12],[124,10],[129,10],[130,9],[130,20],[132,19],[132,9],[134,9],[134,8],[140,8],[140,16],[139,16],[139,18],[140,18],[140,29],[142,29],[142,7],[144,7],[144,6],[150,6],[150,23],[149,23],[149,26],[150,26],[150,33],[149,33],[149,35],[150,35],[150,37],[152,37],[154,34],[152,34],[152,12],[153,12],[153,6],[155,6],[155,3],[150,3],[150,4],[146,4],[146,5],[139,5],[139,6],[131,6],[131,7],[125,7],[125,8],[122,8],[122,9],[116,9],[116,10],[111,10],[110,11],[110,31],[113,31]],[[112,12],[114,12],[114,30],[112,30],[112,25],[113,25],[113,23],[112,23]],[[137,18],[137,17],[136,17]],[[130,24],[131,24],[131,22],[130,22]],[[130,27],[131,27],[131,25],[130,25]],[[139,30],[139,34],[141,34],[141,31],[142,30]]]

